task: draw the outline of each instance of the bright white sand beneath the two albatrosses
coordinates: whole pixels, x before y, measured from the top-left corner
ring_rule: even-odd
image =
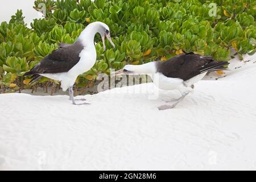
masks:
[[[256,169],[256,59],[245,60],[165,111],[157,107],[177,93],[148,100],[152,91],[117,88],[85,96],[90,106],[0,94],[0,169]]]

